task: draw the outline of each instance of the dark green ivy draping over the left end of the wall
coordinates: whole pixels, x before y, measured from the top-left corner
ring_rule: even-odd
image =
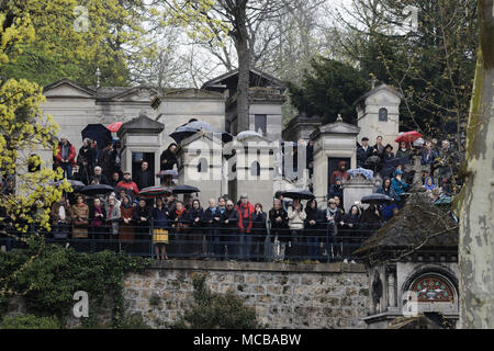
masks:
[[[89,317],[82,317],[83,327],[98,326],[106,302],[112,304],[112,327],[122,327],[126,324],[123,279],[149,263],[111,251],[78,253],[71,248],[46,245],[42,237],[33,236],[25,248],[0,252],[0,316],[12,297],[22,296],[27,313],[54,316],[64,326],[77,303],[74,294],[85,291]]]

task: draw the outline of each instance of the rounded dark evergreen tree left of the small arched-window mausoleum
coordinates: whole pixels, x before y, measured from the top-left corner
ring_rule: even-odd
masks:
[[[347,123],[356,122],[353,102],[368,89],[364,76],[353,67],[334,59],[311,61],[300,87],[289,83],[292,103],[306,115],[318,115],[324,123],[334,122],[338,114]]]

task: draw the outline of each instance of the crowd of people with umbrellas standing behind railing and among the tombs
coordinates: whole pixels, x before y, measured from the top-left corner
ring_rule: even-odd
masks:
[[[458,155],[444,140],[440,148],[431,141],[424,147],[401,143],[396,155],[391,145],[383,146],[382,137],[371,147],[362,138],[358,147],[357,163],[362,168],[384,171],[379,193],[393,202],[386,205],[361,203],[346,211],[343,206],[345,181],[350,178],[347,165],[341,161],[329,177],[330,188],[325,208],[315,199],[304,204],[299,199],[283,199],[278,192],[272,208],[265,211],[260,203],[251,203],[247,194],[238,201],[224,195],[210,199],[202,206],[198,199],[186,196],[186,203],[171,194],[158,199],[139,197],[139,190],[154,185],[149,165],[142,161],[135,172],[122,172],[119,154],[113,145],[96,150],[93,140],[85,139],[77,155],[74,146],[61,138],[55,156],[55,166],[64,170],[68,179],[85,184],[108,184],[114,192],[88,199],[83,194],[69,193],[50,208],[50,240],[76,250],[123,250],[133,254],[155,256],[159,260],[172,258],[214,260],[315,260],[355,262],[351,252],[394,216],[405,204],[411,181],[404,173],[406,160],[414,155],[422,157],[430,171],[423,174],[424,188],[433,201],[451,194],[451,160]],[[310,143],[308,147],[313,147]],[[160,157],[160,170],[177,163],[176,144],[171,144]],[[377,156],[373,162],[368,160]],[[307,150],[311,157],[311,150]],[[386,165],[393,160],[393,168]],[[74,173],[77,166],[77,173]],[[313,162],[307,163],[312,167]],[[386,173],[388,172],[388,173]],[[162,184],[172,185],[172,177],[164,177]],[[12,182],[8,182],[8,185]],[[440,185],[437,185],[440,184]],[[7,189],[7,188],[5,188]],[[3,189],[2,191],[5,191]],[[11,220],[12,222],[12,220]],[[5,220],[9,225],[9,220]],[[154,249],[153,249],[154,248]]]

